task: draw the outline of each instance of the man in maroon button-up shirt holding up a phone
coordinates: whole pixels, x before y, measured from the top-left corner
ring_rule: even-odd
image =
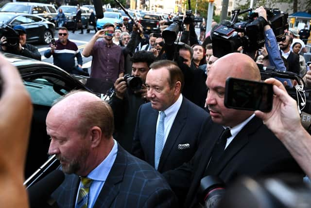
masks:
[[[121,48],[113,43],[113,35],[105,35],[106,31],[113,34],[114,25],[104,24],[103,29],[97,31],[86,44],[82,54],[85,57],[93,56],[91,78],[114,83],[118,77],[124,75],[124,57]],[[103,40],[97,41],[98,38],[103,38]]]

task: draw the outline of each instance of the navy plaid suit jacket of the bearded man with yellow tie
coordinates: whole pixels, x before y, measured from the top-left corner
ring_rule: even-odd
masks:
[[[52,197],[59,208],[74,208],[80,178],[66,174],[65,181]],[[108,174],[94,208],[176,207],[173,191],[149,164],[132,156],[118,145],[116,160]]]

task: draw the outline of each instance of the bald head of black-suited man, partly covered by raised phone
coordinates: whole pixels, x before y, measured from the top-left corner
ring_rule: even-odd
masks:
[[[210,116],[215,123],[235,127],[253,112],[225,107],[225,82],[228,77],[260,81],[260,72],[252,58],[240,53],[232,53],[219,58],[208,72],[206,104]]]

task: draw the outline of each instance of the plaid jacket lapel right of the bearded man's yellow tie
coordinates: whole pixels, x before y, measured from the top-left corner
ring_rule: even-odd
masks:
[[[124,177],[124,171],[127,164],[127,158],[124,154],[123,148],[118,143],[118,153],[116,160],[108,174],[108,177],[104,183],[104,187],[101,190],[94,208],[110,207],[114,199],[119,193],[120,186],[118,186]]]

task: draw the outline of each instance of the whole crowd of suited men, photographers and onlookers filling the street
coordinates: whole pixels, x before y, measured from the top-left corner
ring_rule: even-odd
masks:
[[[263,7],[255,12],[267,22]],[[304,77],[305,87],[311,86],[311,72],[301,56],[306,46],[297,32],[285,31],[284,40],[277,42],[267,22],[262,31],[265,46],[255,57],[243,54],[241,47],[220,57],[213,55],[217,47],[211,43],[213,30],[206,35],[201,31],[198,38],[192,23],[185,25],[178,45],[167,45],[161,33],[146,38],[139,23],[128,25],[126,19],[123,28],[116,26],[107,23],[95,31],[82,52],[84,57],[92,56],[90,77],[113,86],[110,100],[89,92],[70,92],[52,106],[46,118],[51,137],[48,153],[56,155],[66,175],[52,193],[60,208],[208,207],[207,195],[199,192],[206,176],[216,176],[226,185],[241,176],[311,177],[311,136],[301,125],[296,101],[281,83],[292,86],[294,82],[265,80],[275,94],[269,113],[229,109],[224,104],[226,79],[260,81],[257,63],[293,72]],[[80,51],[68,36],[67,28],[60,27],[58,40],[44,55],[53,56],[54,64],[69,73],[81,73]],[[22,28],[20,37],[25,37]],[[0,111],[12,117],[0,122],[0,128],[15,135],[14,140],[8,139],[12,135],[2,131],[0,157],[17,154],[14,162],[19,170],[11,174],[14,168],[3,159],[1,172],[9,182],[19,182],[9,184],[15,193],[22,193],[12,202],[12,207],[18,207],[27,203],[22,187],[26,145],[19,142],[30,131],[31,105],[24,89],[18,97],[10,94],[9,86],[22,88],[22,82],[12,80],[18,77],[14,67],[5,60],[0,63],[0,102],[6,104],[0,105]],[[127,74],[138,77],[141,86],[132,88],[124,78]],[[7,111],[12,106],[5,102],[15,99],[24,101],[18,103],[17,111],[25,119],[16,121],[17,113]],[[13,122],[21,124],[17,131]],[[14,151],[8,152],[9,144]],[[11,199],[7,193],[3,196],[2,200]]]

